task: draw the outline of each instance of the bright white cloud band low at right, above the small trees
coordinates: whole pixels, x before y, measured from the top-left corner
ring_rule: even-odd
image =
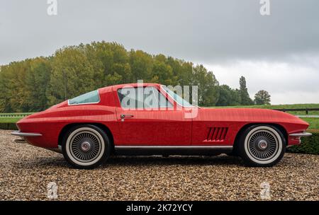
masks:
[[[204,66],[213,71],[220,84],[233,88],[239,88],[239,78],[245,76],[251,98],[257,91],[266,90],[273,104],[319,103],[319,55],[299,60],[294,56],[288,62],[240,60]]]

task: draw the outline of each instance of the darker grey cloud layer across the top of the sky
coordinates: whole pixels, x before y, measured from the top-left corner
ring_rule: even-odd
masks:
[[[0,63],[49,55],[92,40],[117,41],[152,53],[201,62],[283,59],[319,52],[319,1],[270,0],[0,1]]]

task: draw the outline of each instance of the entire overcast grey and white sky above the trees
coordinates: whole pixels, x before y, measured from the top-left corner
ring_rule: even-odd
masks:
[[[57,48],[116,41],[126,49],[203,64],[218,81],[272,103],[319,103],[319,1],[0,0],[0,64],[49,56]]]

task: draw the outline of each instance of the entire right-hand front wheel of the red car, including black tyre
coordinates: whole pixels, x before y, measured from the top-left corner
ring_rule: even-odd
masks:
[[[240,156],[247,165],[269,167],[284,156],[286,140],[284,135],[272,125],[253,125],[240,136],[238,143]]]

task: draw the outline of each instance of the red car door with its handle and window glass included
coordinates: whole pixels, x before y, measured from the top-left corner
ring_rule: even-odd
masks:
[[[131,93],[127,93],[128,91]],[[116,108],[121,134],[118,144],[127,146],[191,144],[191,119],[184,117],[184,110],[176,110],[174,103],[155,86],[147,86],[142,88],[142,91],[138,88],[118,89],[116,94],[120,102]],[[126,102],[130,100],[130,103],[125,103],[125,99]],[[132,104],[133,100],[135,104]]]

